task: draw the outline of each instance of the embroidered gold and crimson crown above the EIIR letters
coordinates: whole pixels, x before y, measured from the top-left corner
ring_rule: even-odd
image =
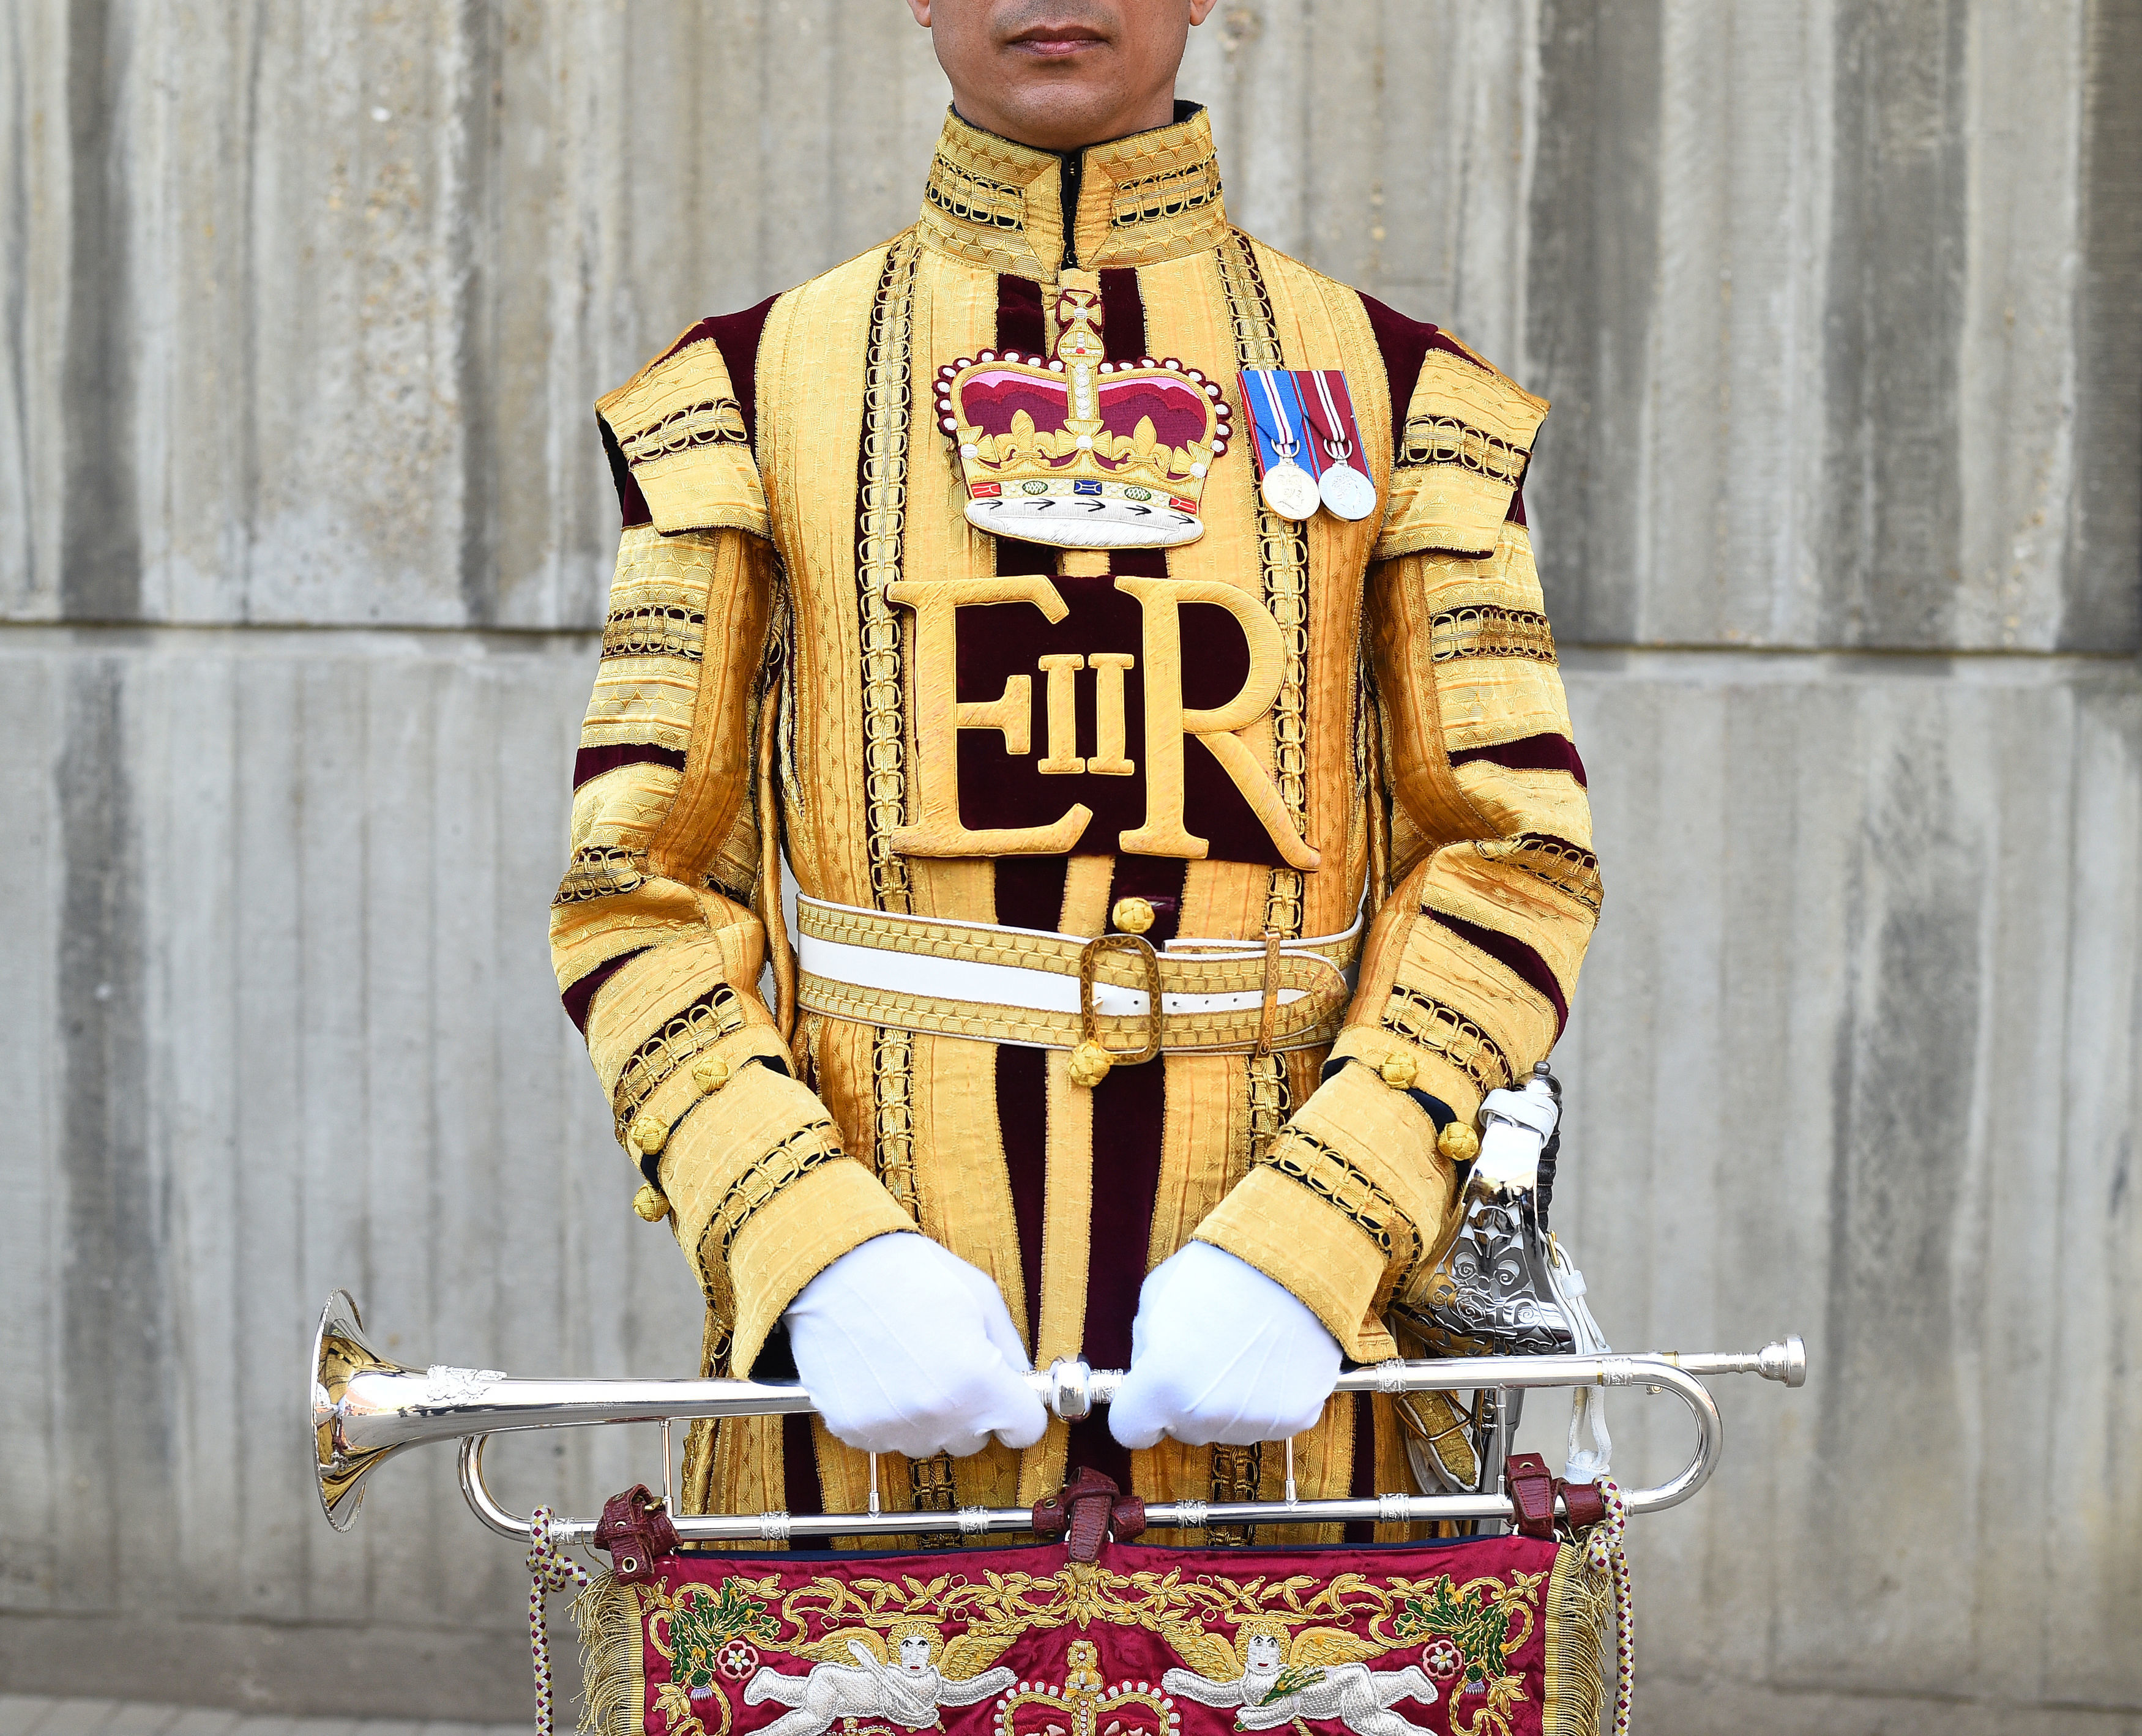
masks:
[[[1056,298],[1056,355],[985,349],[936,375],[960,447],[966,518],[1054,548],[1174,548],[1204,535],[1197,501],[1227,450],[1215,381],[1176,360],[1103,362],[1101,298]]]

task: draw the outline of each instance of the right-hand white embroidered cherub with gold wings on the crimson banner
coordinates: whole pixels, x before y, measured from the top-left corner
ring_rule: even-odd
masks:
[[[1215,1653],[1225,1644],[1215,1640]],[[1236,1706],[1242,1730],[1277,1730],[1292,1719],[1339,1719],[1354,1736],[1429,1736],[1390,1710],[1397,1700],[1435,1702],[1435,1682],[1418,1665],[1369,1670],[1384,1646],[1337,1627],[1311,1627],[1289,1642],[1274,1618],[1251,1616],[1234,1635],[1234,1678],[1170,1670],[1161,1687],[1204,1706]],[[1202,1663],[1215,1659],[1200,1659]]]

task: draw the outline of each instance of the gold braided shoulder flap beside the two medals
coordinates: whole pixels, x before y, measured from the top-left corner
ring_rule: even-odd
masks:
[[[1390,471],[1390,509],[1375,559],[1489,554],[1547,420],[1534,398],[1448,334],[1420,364]]]

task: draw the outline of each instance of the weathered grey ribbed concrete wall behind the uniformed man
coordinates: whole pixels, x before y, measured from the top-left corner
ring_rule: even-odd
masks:
[[[1636,1533],[1649,1730],[2142,1730],[2138,75],[2125,0],[1223,0],[1185,73],[1238,220],[1557,400],[1564,1222],[1615,1342],[1816,1370]],[[443,1453],[330,1535],[300,1346],[690,1361],[542,942],[589,402],[942,101],[893,0],[0,9],[0,1685],[518,1715],[512,1550]]]

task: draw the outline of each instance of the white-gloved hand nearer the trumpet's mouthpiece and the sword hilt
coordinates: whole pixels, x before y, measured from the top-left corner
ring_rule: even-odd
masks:
[[[1107,1408],[1125,1447],[1285,1441],[1339,1383],[1339,1340],[1249,1261],[1191,1242],[1137,1293],[1131,1372]]]

